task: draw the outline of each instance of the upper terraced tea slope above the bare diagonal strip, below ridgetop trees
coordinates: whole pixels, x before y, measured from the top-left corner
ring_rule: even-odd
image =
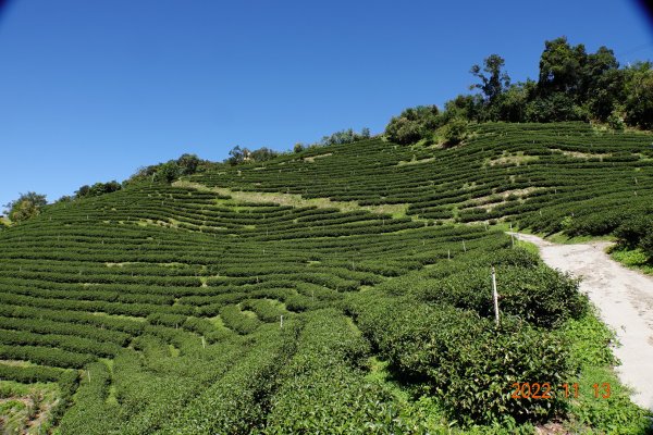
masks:
[[[442,223],[508,221],[546,235],[615,234],[653,254],[653,136],[584,123],[484,123],[463,146],[370,139],[190,176],[205,186],[403,206]],[[401,208],[397,208],[399,210]]]

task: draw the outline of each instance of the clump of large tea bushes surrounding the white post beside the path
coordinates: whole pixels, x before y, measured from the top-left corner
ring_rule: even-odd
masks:
[[[494,325],[488,264],[495,264],[502,320]],[[360,328],[396,372],[426,382],[452,418],[492,422],[551,417],[564,400],[514,400],[505,384],[563,383],[574,373],[552,331],[587,310],[577,284],[519,250],[464,253],[353,298]]]

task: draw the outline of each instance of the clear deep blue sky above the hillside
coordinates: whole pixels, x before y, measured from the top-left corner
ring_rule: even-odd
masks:
[[[653,59],[628,0],[16,0],[0,16],[0,204],[184,152],[378,133],[467,92],[488,54],[535,77],[544,40],[563,35]]]

